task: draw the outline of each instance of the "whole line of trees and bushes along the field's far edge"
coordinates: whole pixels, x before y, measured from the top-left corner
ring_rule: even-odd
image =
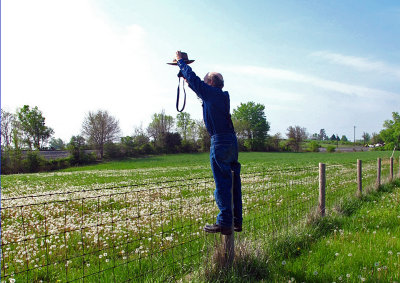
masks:
[[[393,112],[393,120],[384,122],[384,129],[364,133],[364,143],[385,143],[386,149],[399,148],[400,117]],[[241,103],[232,112],[232,121],[241,151],[304,150],[303,141],[311,139],[307,150],[318,151],[320,141],[348,142],[345,135],[330,138],[324,129],[309,135],[306,128],[289,126],[286,139],[280,133],[269,135],[265,106],[255,102]],[[1,170],[2,173],[56,170],[68,166],[98,162],[102,159],[138,157],[150,154],[206,152],[210,136],[202,120],[192,119],[181,112],[173,117],[164,110],[154,113],[146,128],[136,127],[132,135],[121,136],[119,121],[106,110],[89,111],[82,122],[80,133],[65,143],[53,137],[54,130],[46,126],[45,117],[37,106],[29,105],[10,113],[1,109]],[[70,156],[44,160],[39,150],[68,150]],[[92,152],[88,153],[91,149]],[[93,151],[94,150],[94,151]]]

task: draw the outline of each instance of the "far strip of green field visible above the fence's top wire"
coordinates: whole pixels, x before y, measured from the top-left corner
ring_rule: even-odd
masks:
[[[251,173],[306,166],[318,167],[320,162],[355,164],[357,159],[369,162],[378,157],[387,159],[391,154],[391,152],[380,151],[352,153],[241,152],[239,162],[242,164],[242,173]],[[398,159],[398,153],[395,155],[396,157]],[[212,177],[207,153],[127,159],[73,167],[51,173],[2,175],[1,186],[3,196],[19,196],[49,191],[85,190],[203,177]]]

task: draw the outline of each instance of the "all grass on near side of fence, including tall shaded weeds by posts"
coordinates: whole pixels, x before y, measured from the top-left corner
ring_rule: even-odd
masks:
[[[230,270],[212,264],[209,282],[399,282],[400,180],[341,202],[261,247],[244,244]],[[242,240],[246,242],[246,240]],[[239,243],[238,249],[243,249]]]

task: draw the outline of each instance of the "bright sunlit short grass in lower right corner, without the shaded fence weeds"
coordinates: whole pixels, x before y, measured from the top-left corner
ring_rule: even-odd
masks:
[[[351,199],[318,225],[301,253],[286,258],[278,280],[393,282],[400,280],[400,182]],[[315,225],[314,225],[315,226]]]

